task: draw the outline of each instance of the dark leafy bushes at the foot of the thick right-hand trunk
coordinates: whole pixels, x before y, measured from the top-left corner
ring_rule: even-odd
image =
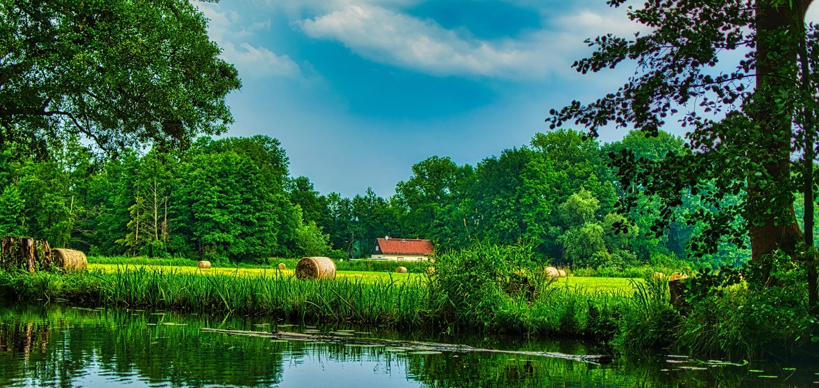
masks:
[[[811,336],[803,263],[778,252],[771,277],[749,263],[741,268],[703,269],[686,281],[690,302],[680,346],[708,355],[754,357],[786,350]],[[762,279],[771,282],[765,285]],[[789,345],[790,344],[790,345]]]

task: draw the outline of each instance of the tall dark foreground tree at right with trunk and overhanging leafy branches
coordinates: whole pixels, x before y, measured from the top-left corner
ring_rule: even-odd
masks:
[[[808,188],[806,203],[813,203],[811,113],[819,51],[816,28],[808,33],[804,22],[811,2],[672,0],[630,7],[631,20],[651,32],[589,40],[597,50],[574,67],[585,74],[636,60],[636,75],[600,100],[553,109],[547,121],[552,127],[573,121],[592,136],[609,124],[657,136],[668,118],[681,118],[684,127],[693,128],[686,142],[691,152],[663,161],[638,159],[627,150],[611,154],[619,180],[630,194],[645,190],[663,198],[658,230],[681,205],[681,195],[695,188],[704,207],[693,216],[707,226],[692,240],[695,253],[715,252],[725,239],[742,246],[749,235],[752,259],[768,279],[766,257],[776,249],[796,255],[804,242],[794,218],[794,192]],[[747,55],[726,67],[722,61],[731,57],[726,51]],[[687,111],[675,116],[678,109]],[[808,167],[792,168],[792,153],[806,156]],[[737,194],[744,201],[722,206],[723,198]],[[625,208],[635,203],[630,196]],[[813,228],[807,217],[806,228]],[[812,239],[808,246],[812,252]],[[816,305],[815,270],[808,278]]]

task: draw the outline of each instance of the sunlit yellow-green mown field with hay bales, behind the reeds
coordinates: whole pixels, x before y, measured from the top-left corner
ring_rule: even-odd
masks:
[[[88,264],[89,270],[102,270],[105,272],[116,272],[117,269],[136,270],[138,268],[145,268],[147,270],[157,270],[163,272],[176,272],[179,274],[233,274],[233,275],[256,275],[256,276],[275,276],[281,274],[282,276],[292,276],[293,270],[277,270],[274,268],[210,268],[201,270],[191,266],[179,265],[116,265],[116,264]],[[426,274],[394,274],[386,271],[337,271],[338,279],[346,279],[362,283],[375,283],[382,281],[394,281],[396,283],[404,283],[407,281],[415,282],[426,278]],[[552,287],[554,288],[568,288],[575,289],[577,292],[595,293],[631,293],[630,281],[635,279],[626,278],[586,278],[579,276],[570,276],[568,278],[554,279]],[[637,279],[637,281],[641,281]]]

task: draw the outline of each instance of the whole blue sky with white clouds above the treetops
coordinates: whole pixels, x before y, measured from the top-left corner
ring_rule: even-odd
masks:
[[[549,109],[596,100],[633,74],[577,74],[572,62],[591,52],[583,41],[642,29],[604,0],[197,7],[242,78],[242,89],[227,98],[236,122],[226,136],[278,139],[292,176],[344,197],[368,188],[395,194],[412,165],[433,155],[475,165],[526,145],[549,131]],[[623,135],[604,131],[600,140]]]

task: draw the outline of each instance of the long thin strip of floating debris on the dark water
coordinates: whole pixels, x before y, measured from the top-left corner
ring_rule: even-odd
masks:
[[[326,334],[304,334],[301,332],[248,332],[243,330],[224,330],[220,328],[201,328],[202,332],[220,332],[223,334],[247,336],[247,337],[262,337],[274,338],[279,340],[290,341],[310,341],[310,342],[337,342],[343,344],[354,345],[382,345],[382,346],[396,346],[405,347],[414,350],[437,350],[458,353],[504,353],[507,355],[528,355],[536,357],[549,357],[552,359],[568,359],[570,361],[577,361],[581,363],[594,363],[597,365],[611,363],[612,358],[608,355],[567,355],[565,353],[549,352],[549,351],[525,351],[525,350],[497,350],[497,349],[482,349],[467,345],[458,344],[442,344],[438,342],[421,342],[421,341],[396,341],[386,340],[382,338],[353,338],[342,337]]]

